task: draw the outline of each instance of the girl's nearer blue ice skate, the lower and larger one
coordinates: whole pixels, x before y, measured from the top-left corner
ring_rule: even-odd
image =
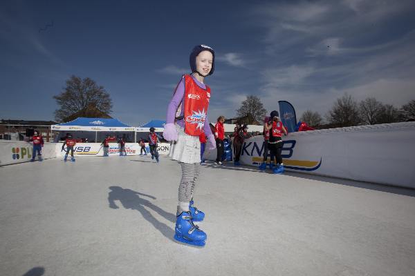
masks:
[[[182,212],[177,216],[175,232],[174,239],[178,242],[192,246],[205,246],[206,233],[193,224],[190,212]]]

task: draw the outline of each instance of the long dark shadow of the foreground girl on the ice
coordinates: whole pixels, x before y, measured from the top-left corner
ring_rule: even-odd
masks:
[[[153,226],[159,230],[160,233],[167,237],[167,239],[174,241],[174,230],[169,228],[169,226],[166,224],[163,224],[163,222],[158,221],[145,207],[151,208],[152,210],[156,211],[158,215],[164,217],[172,223],[176,222],[176,216],[171,213],[167,213],[162,208],[152,204],[150,201],[143,199],[140,196],[149,197],[151,199],[156,199],[156,197],[138,193],[135,190],[124,189],[119,186],[111,186],[109,189],[111,190],[111,192],[108,193],[109,208],[118,209],[119,207],[115,203],[115,201],[118,200],[121,202],[124,208],[138,210],[141,213],[142,217],[153,224]]]

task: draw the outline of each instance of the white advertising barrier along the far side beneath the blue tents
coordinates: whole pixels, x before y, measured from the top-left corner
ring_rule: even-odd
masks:
[[[66,148],[66,146],[64,147]],[[160,155],[169,154],[170,144],[167,143],[158,143],[158,153]],[[140,155],[141,147],[138,143],[126,143],[124,146],[125,152],[127,155]],[[104,156],[104,150],[100,143],[77,143],[73,148],[74,156]],[[150,148],[148,144],[145,144],[145,150],[147,154],[150,153]],[[120,144],[109,143],[109,156],[119,156],[120,155]],[[62,142],[56,144],[56,155],[57,157],[64,157],[66,152],[62,150]],[[69,153],[71,155],[71,153]]]

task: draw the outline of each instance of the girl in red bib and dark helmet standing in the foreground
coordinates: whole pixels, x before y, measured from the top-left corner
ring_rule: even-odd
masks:
[[[163,137],[177,141],[172,158],[181,164],[182,177],[178,186],[178,206],[174,239],[194,246],[205,246],[206,234],[194,225],[205,214],[193,206],[193,192],[201,169],[199,135],[205,132],[208,148],[216,148],[208,121],[210,88],[204,80],[214,71],[214,50],[209,46],[195,46],[190,53],[192,75],[183,75],[167,108]],[[178,108],[181,107],[176,117]],[[176,120],[176,124],[174,121]]]

